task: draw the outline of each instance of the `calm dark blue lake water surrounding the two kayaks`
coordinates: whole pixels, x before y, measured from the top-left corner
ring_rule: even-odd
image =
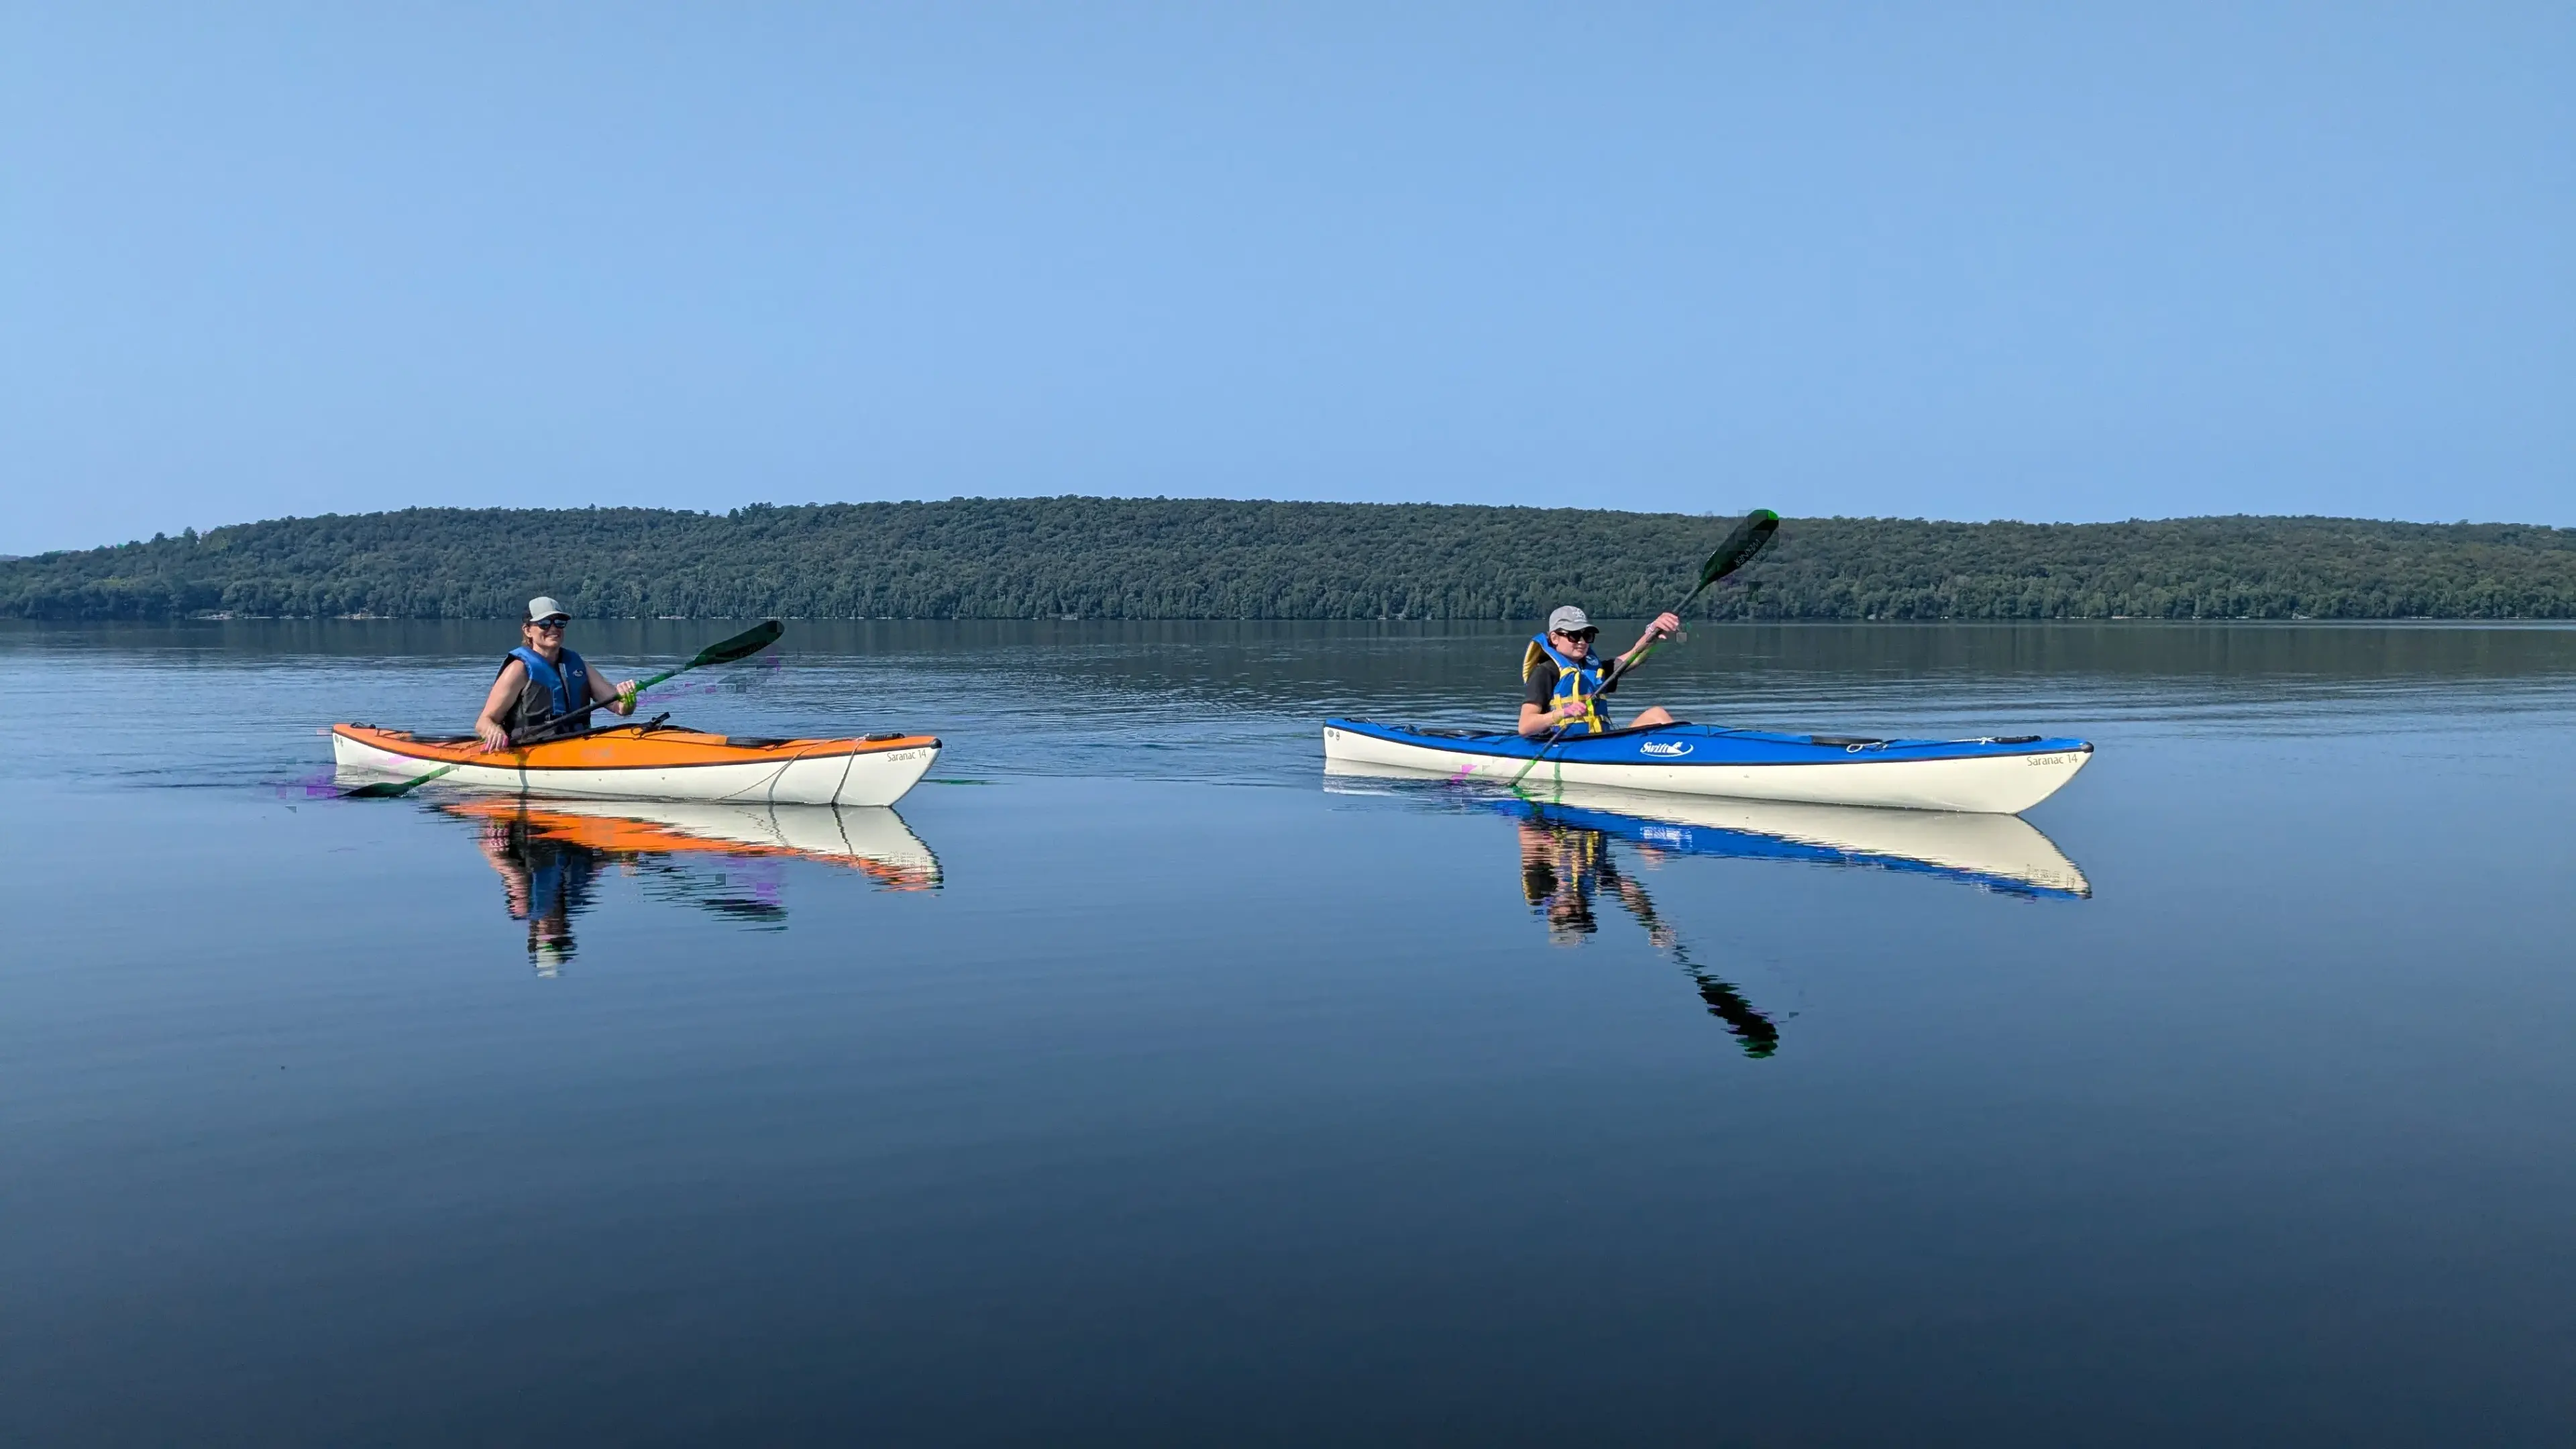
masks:
[[[507,627],[0,629],[0,1439],[2568,1444],[2576,632],[1623,691],[2089,737],[2074,877],[1327,786],[1520,637],[791,624],[659,709],[948,750],[762,828],[317,789]]]

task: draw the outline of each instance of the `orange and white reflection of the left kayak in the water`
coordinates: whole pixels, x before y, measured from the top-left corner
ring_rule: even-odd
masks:
[[[940,861],[902,815],[886,807],[729,807],[644,804],[616,807],[574,799],[459,799],[448,815],[526,825],[549,841],[613,856],[786,856],[866,871],[886,890],[938,890]],[[611,810],[616,810],[611,815]]]

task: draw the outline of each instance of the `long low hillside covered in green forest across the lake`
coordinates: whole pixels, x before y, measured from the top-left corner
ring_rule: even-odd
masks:
[[[675,513],[407,508],[0,562],[0,614],[1535,619],[1680,598],[1728,518],[1476,505],[958,498]],[[2576,529],[1790,518],[1765,619],[2568,619]]]

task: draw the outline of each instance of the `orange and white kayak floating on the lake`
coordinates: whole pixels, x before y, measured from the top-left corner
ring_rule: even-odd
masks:
[[[443,784],[567,799],[894,804],[938,753],[935,735],[773,740],[662,724],[611,724],[477,753],[474,735],[332,724],[332,761],[345,776],[404,779],[453,766]]]

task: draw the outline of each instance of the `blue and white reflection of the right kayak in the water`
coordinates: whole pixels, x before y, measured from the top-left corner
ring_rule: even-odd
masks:
[[[1327,761],[1324,771],[1324,789],[1368,789],[1358,784],[1368,779],[1427,779],[1422,771],[1355,761]],[[2009,895],[2092,895],[2084,871],[2017,815],[1777,804],[1582,784],[1530,794],[1481,789],[1473,804],[1600,830],[1677,856],[1875,866]]]

